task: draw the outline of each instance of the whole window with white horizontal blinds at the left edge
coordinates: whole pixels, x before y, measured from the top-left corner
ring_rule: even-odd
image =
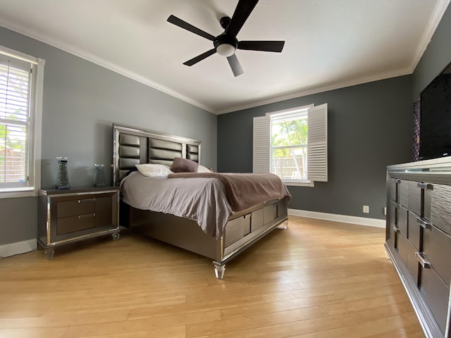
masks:
[[[0,198],[39,188],[43,75],[44,60],[0,46]]]

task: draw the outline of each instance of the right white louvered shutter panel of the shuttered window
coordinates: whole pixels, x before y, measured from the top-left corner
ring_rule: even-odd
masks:
[[[307,178],[327,182],[327,104],[309,109],[307,121]]]

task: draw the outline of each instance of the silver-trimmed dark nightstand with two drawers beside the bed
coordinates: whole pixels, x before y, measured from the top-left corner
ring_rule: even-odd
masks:
[[[118,187],[42,189],[38,199],[37,242],[47,259],[70,242],[106,234],[119,239]]]

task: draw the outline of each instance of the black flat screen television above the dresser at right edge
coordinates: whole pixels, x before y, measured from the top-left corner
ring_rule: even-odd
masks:
[[[451,156],[451,63],[420,96],[419,159]]]

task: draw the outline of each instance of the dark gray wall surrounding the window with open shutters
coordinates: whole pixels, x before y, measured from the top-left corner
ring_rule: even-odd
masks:
[[[254,116],[327,103],[328,182],[288,187],[289,207],[382,219],[386,166],[410,158],[411,96],[409,75],[219,115],[218,170],[252,171]],[[363,205],[369,214],[362,213]]]

